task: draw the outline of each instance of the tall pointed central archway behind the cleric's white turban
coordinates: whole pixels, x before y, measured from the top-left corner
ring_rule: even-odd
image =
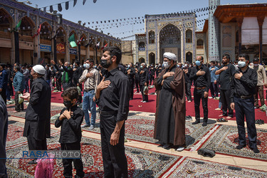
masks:
[[[159,31],[159,55],[160,62],[163,61],[163,53],[171,52],[177,55],[181,61],[181,31],[177,26],[168,24]]]

